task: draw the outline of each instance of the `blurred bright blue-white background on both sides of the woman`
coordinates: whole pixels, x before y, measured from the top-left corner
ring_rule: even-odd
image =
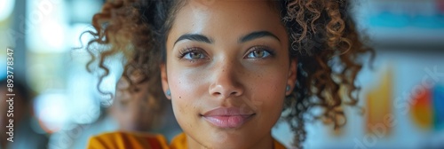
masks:
[[[109,112],[114,100],[96,89],[82,47],[91,36],[91,18],[102,0],[0,0],[0,148],[84,148],[102,132],[122,129]],[[345,106],[347,124],[333,130],[321,122],[306,124],[306,148],[444,148],[444,0],[356,0],[352,10],[377,56],[359,75],[360,106]],[[13,50],[14,136],[6,113],[7,49]],[[115,93],[119,62],[100,88]],[[22,88],[18,87],[22,84]],[[119,106],[120,107],[120,106]],[[120,108],[131,111],[132,107]],[[171,115],[171,114],[167,114]],[[170,139],[180,132],[173,117]],[[274,137],[290,145],[284,123]]]

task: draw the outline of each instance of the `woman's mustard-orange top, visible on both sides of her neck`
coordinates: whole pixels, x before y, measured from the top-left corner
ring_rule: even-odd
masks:
[[[110,132],[91,137],[88,148],[91,149],[114,149],[114,148],[146,148],[146,149],[185,149],[186,135],[181,133],[174,137],[171,145],[167,144],[162,135],[134,133],[134,132]],[[274,140],[274,149],[284,149],[278,141]]]

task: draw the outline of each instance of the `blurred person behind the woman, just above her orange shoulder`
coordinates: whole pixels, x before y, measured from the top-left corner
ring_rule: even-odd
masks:
[[[149,84],[142,82],[135,90],[127,90],[130,83],[123,76],[116,84],[115,101],[108,113],[115,118],[120,130],[156,132],[171,138],[180,131],[171,105],[169,102],[157,105],[158,99],[150,93]]]

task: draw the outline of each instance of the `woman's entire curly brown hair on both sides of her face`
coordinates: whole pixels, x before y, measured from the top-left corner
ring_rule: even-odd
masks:
[[[148,92],[154,97],[154,111],[161,111],[166,99],[160,82],[159,65],[165,59],[165,39],[172,20],[184,1],[115,0],[103,5],[92,19],[94,39],[88,43],[90,67],[99,60],[108,75],[105,59],[123,53],[123,78],[130,81],[128,90],[137,91],[134,84],[149,82]],[[362,67],[361,56],[374,57],[373,49],[362,42],[346,0],[281,0],[271,1],[281,14],[289,35],[290,59],[297,59],[297,82],[285,100],[282,120],[289,122],[294,132],[293,145],[301,148],[306,137],[305,122],[321,120],[332,123],[334,129],[345,124],[343,105],[356,106],[359,86],[356,76]],[[92,44],[107,48],[96,51]],[[90,70],[90,69],[88,69]],[[91,71],[91,70],[90,70]],[[99,84],[98,84],[99,86]],[[98,87],[99,88],[99,87]],[[345,94],[343,91],[345,90]],[[321,114],[310,109],[318,106]]]

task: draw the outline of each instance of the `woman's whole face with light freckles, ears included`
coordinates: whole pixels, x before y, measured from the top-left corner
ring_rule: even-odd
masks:
[[[161,69],[189,147],[270,148],[286,86],[296,81],[278,12],[266,1],[189,1],[179,9]]]

